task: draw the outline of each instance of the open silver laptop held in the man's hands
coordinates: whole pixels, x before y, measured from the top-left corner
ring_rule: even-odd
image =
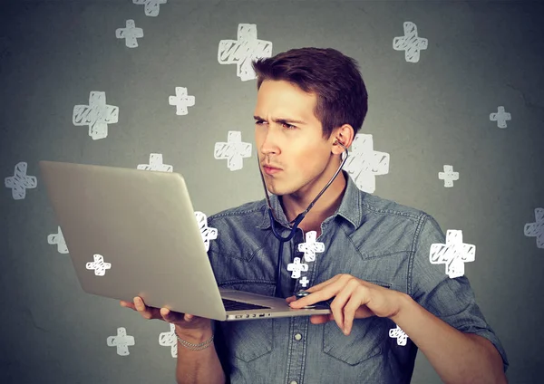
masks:
[[[219,289],[180,173],[45,160],[39,167],[86,293],[141,296],[151,307],[218,321],[331,312],[326,303],[292,309],[283,298]]]

